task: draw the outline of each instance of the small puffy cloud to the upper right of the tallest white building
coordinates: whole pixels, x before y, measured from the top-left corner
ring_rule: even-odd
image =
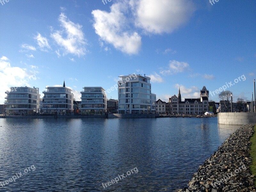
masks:
[[[160,73],[162,75],[172,75],[175,73],[180,73],[189,69],[189,64],[186,62],[180,62],[176,60],[169,61],[169,68],[167,70],[162,70]]]

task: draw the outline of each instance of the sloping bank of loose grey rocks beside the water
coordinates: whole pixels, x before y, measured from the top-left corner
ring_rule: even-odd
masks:
[[[249,165],[250,137],[254,124],[243,125],[231,134],[214,154],[199,166],[188,187],[177,191],[256,191]]]

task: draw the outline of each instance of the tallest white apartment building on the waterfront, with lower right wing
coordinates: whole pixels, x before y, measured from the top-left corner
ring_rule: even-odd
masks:
[[[131,74],[119,76],[118,113],[149,114],[156,113],[156,94],[151,93],[150,77]]]

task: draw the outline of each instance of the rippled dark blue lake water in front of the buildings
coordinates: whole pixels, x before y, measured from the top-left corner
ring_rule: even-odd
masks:
[[[219,127],[217,118],[1,118],[0,125],[0,181],[22,174],[0,191],[174,191],[238,128]]]

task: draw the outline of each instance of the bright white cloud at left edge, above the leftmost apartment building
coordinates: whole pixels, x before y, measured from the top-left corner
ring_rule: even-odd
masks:
[[[5,91],[10,90],[10,87],[32,86],[30,81],[36,80],[35,71],[28,71],[26,68],[12,67],[10,62],[7,62],[7,57],[3,56],[0,59],[0,76],[2,81],[0,84],[0,103],[4,102]]]

